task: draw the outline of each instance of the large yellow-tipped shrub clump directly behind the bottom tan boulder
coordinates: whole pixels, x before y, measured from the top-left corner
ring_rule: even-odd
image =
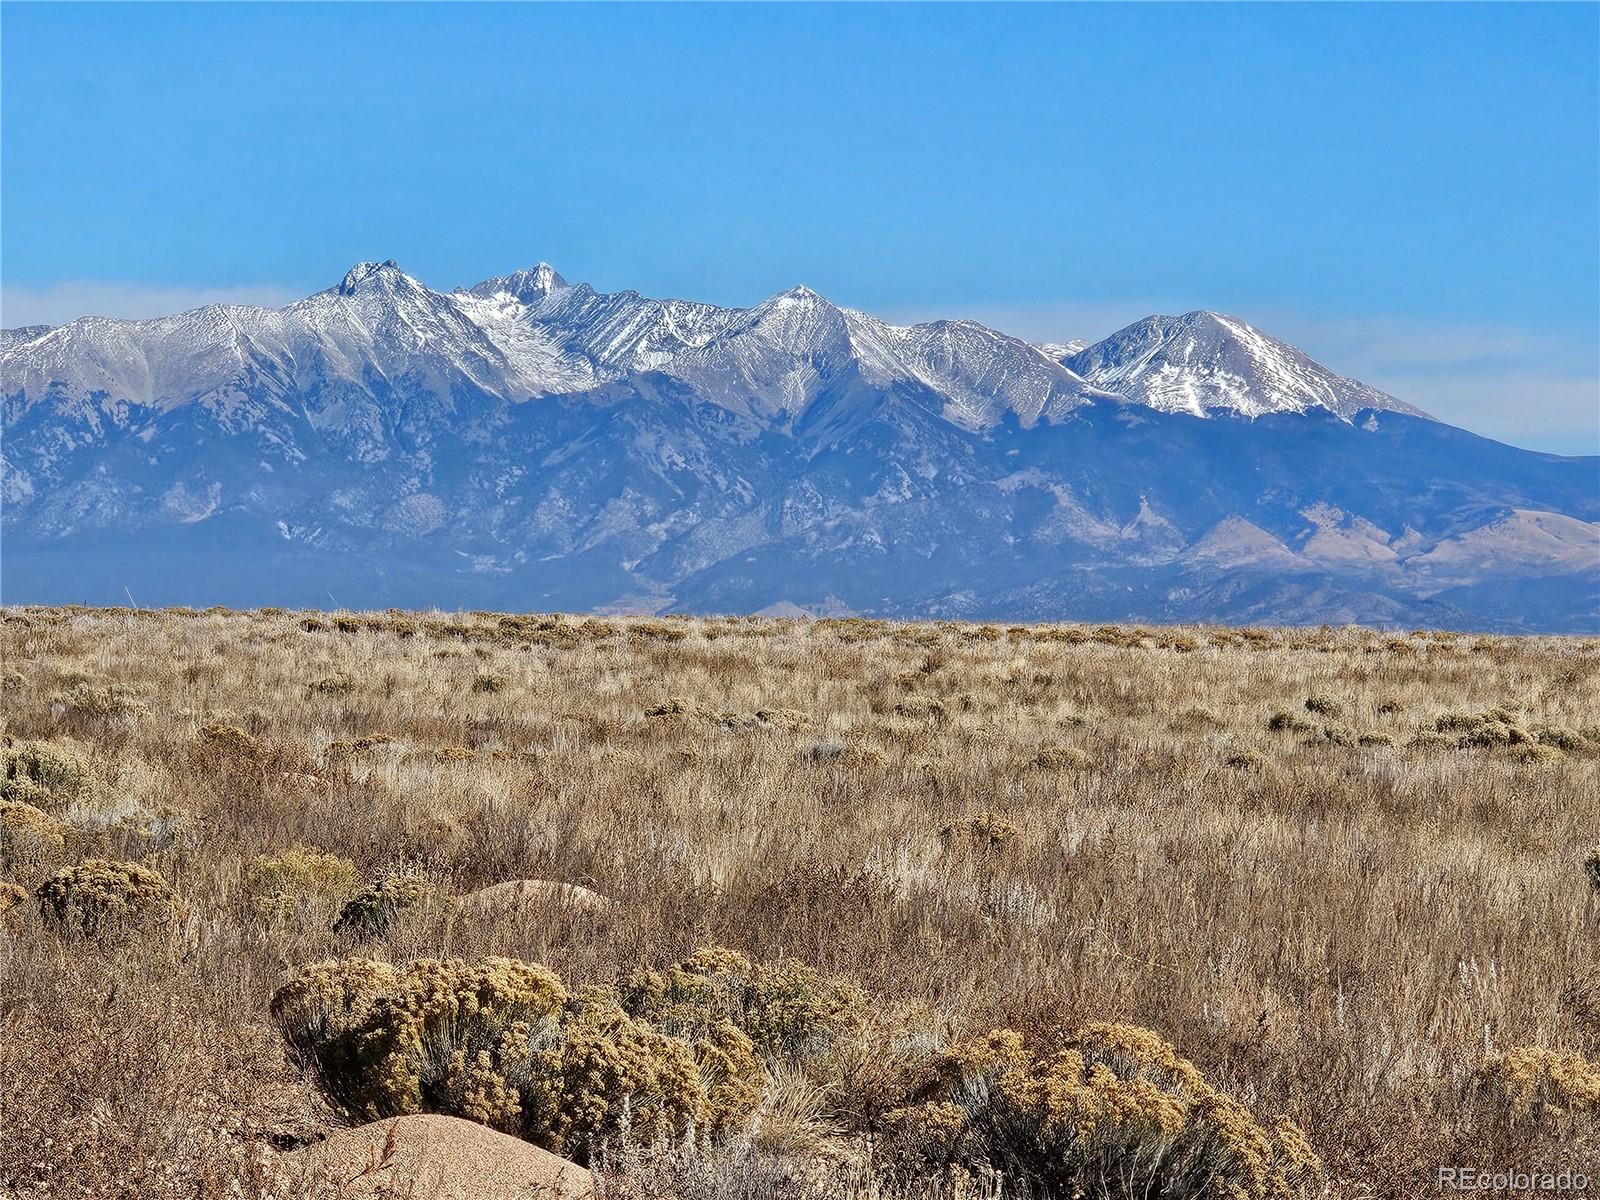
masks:
[[[307,966],[272,1014],[328,1096],[376,1118],[445,1112],[584,1157],[624,1126],[654,1142],[742,1123],[760,1099],[750,1040],[694,1040],[629,1016],[611,987],[568,995],[515,958],[352,958]]]

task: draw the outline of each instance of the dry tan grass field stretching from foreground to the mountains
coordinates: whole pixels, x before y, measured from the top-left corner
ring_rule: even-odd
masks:
[[[1291,1118],[1323,1163],[1294,1194],[1600,1176],[1600,642],[112,610],[0,638],[6,795],[53,822],[3,843],[46,902],[0,933],[0,1194],[270,1194],[344,1120],[269,1011],[302,965],[578,989],[707,946],[866,1016],[693,1150],[573,1136],[606,1195],[960,1195],[906,1134],[949,1054],[1096,1021]],[[85,770],[35,779],[40,742]],[[90,858],[171,910],[51,909]],[[384,880],[421,899],[338,920]],[[506,880],[606,899],[454,901]]]

